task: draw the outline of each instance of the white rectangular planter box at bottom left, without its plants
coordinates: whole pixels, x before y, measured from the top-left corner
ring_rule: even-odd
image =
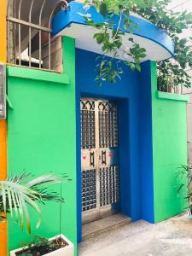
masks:
[[[49,241],[54,240],[54,239],[59,238],[59,237],[60,236],[54,236],[54,237],[50,238]],[[56,250],[55,252],[44,254],[44,256],[73,256],[73,253],[74,253],[73,243],[71,241],[69,241],[67,239],[67,237],[65,237],[63,235],[61,235],[61,238],[64,241],[67,241],[68,245],[66,247],[63,247],[63,248],[60,248],[60,249]],[[23,249],[27,249],[27,247],[22,247],[20,249],[16,249],[14,251],[11,251],[10,256],[16,256],[16,253],[22,252]]]

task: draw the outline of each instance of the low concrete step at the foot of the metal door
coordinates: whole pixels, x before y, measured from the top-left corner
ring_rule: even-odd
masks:
[[[100,235],[110,230],[115,230],[119,227],[125,226],[131,223],[131,218],[118,213],[113,214],[107,218],[101,218],[99,220],[90,222],[83,225],[83,241],[94,236]]]

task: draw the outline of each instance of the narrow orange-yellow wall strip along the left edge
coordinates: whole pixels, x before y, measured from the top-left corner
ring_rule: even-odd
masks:
[[[7,62],[7,1],[0,0],[0,62]],[[0,120],[0,180],[7,177],[7,123]],[[7,256],[7,223],[0,224],[0,256]]]

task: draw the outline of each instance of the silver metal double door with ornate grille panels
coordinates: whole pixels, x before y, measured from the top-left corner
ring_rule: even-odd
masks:
[[[118,108],[81,100],[83,224],[119,211]]]

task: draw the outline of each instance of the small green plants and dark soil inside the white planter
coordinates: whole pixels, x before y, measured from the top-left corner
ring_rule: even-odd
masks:
[[[66,247],[67,242],[63,241],[59,236],[55,240],[49,241],[41,236],[34,236],[31,241],[22,245],[23,249],[18,256],[40,256],[45,253],[51,253],[61,247]],[[26,248],[27,247],[27,248]]]

